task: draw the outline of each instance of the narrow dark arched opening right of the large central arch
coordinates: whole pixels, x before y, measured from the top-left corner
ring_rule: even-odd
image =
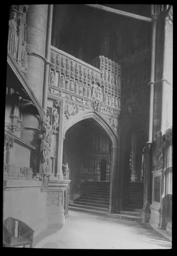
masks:
[[[122,205],[142,209],[144,198],[144,144],[147,141],[145,127],[138,119],[132,119],[123,128]],[[121,186],[121,184],[120,184]]]

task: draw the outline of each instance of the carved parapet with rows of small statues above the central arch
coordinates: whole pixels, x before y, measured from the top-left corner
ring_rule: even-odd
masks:
[[[77,94],[90,100],[101,99],[106,105],[120,108],[120,97],[117,93],[118,86],[120,87],[118,82],[120,81],[120,72],[118,71],[120,70],[120,65],[104,56],[99,56],[99,58],[101,63],[99,69],[102,74],[104,73],[104,76],[69,57],[62,56],[59,52],[51,50],[51,80],[49,84],[67,90],[68,95],[65,96],[66,98],[71,99],[73,97],[71,96],[72,94]],[[61,64],[59,64],[59,60],[61,60]],[[58,76],[58,78],[55,79],[55,76]],[[54,88],[50,88],[49,91],[57,94]],[[59,94],[61,95],[62,92],[59,92]]]

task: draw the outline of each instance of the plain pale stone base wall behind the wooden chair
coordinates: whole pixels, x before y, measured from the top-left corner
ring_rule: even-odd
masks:
[[[4,189],[4,220],[8,217],[24,221],[35,232],[46,226],[46,192],[41,182],[6,180]]]

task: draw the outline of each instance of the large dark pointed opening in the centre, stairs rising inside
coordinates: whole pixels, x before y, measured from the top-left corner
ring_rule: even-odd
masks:
[[[99,201],[99,192],[106,188],[108,210],[111,146],[109,135],[94,118],[81,120],[66,131],[63,164],[69,167],[70,205],[89,208]]]

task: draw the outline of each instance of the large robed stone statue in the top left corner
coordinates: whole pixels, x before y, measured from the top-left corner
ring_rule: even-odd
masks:
[[[17,59],[18,51],[18,32],[20,27],[17,25],[16,18],[18,11],[16,6],[12,7],[11,20],[9,20],[9,32],[8,32],[8,50],[12,56]]]

